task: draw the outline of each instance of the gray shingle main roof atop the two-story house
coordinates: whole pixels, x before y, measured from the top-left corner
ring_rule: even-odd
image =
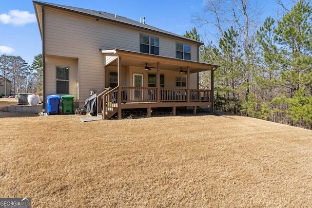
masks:
[[[176,38],[183,38],[183,39],[188,40],[188,41],[193,41],[193,42],[197,43],[198,45],[203,44],[202,42],[198,42],[198,41],[190,39],[190,38],[185,38],[183,36],[180,36],[180,35],[177,35],[177,34],[174,34],[174,33],[171,33],[171,32],[156,28],[156,27],[153,27],[153,26],[148,25],[148,24],[143,24],[143,23],[140,23],[140,22],[132,20],[132,19],[124,18],[121,16],[116,16],[116,18],[115,18],[114,14],[110,14],[107,12],[95,11],[95,10],[91,10],[91,9],[83,9],[83,8],[78,8],[78,7],[73,7],[73,6],[65,6],[65,5],[60,5],[60,4],[55,4],[55,3],[47,3],[47,2],[41,2],[41,1],[33,1],[33,2],[36,4],[39,4],[39,5],[50,6],[53,8],[58,8],[58,9],[72,11],[72,12],[76,12],[76,13],[80,13],[80,14],[84,14],[84,15],[88,15],[88,16],[93,16],[93,17],[96,17],[99,19],[107,19],[107,20],[131,25],[134,27],[139,27],[142,29],[162,33],[162,34],[173,36]]]

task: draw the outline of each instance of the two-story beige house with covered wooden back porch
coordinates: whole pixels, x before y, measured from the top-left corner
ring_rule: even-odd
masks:
[[[80,108],[93,91],[98,115],[122,109],[211,106],[219,66],[198,62],[203,43],[101,11],[33,1],[42,38],[43,98],[74,95]],[[211,71],[212,89],[198,89]],[[104,90],[104,92],[103,92]],[[118,99],[121,98],[121,99]],[[103,113],[104,112],[104,113]]]

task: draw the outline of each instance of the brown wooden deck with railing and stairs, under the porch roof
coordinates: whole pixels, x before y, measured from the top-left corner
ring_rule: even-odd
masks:
[[[197,106],[210,106],[211,100],[211,90],[121,86],[104,89],[98,95],[98,116],[107,119],[118,113],[121,119],[122,109],[139,108],[146,108],[151,116],[152,108],[164,107],[172,107],[173,115],[176,115],[176,107],[189,106],[194,107],[196,114]]]

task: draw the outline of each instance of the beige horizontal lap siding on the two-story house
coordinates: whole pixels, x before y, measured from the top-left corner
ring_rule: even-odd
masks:
[[[96,21],[68,12],[60,12],[46,7],[45,9],[45,55],[58,57],[74,57],[79,60],[77,76],[79,75],[79,102],[89,97],[89,91],[102,92],[104,84],[104,62],[106,61],[99,49],[118,48],[139,52],[139,34],[159,38],[159,55],[176,57],[176,42],[191,45],[191,59],[197,61],[197,46],[192,42],[183,42],[178,38],[167,37],[155,33],[146,33],[126,26]],[[49,61],[59,61],[50,59]],[[51,64],[51,65],[49,65]],[[55,93],[55,65],[46,65],[46,95]],[[48,66],[49,65],[49,66]],[[169,73],[170,74],[170,73]],[[72,76],[72,74],[71,74]],[[196,75],[191,75],[191,87],[197,87]],[[53,81],[52,81],[53,80]],[[132,83],[131,81],[124,81]],[[172,83],[175,84],[175,81]],[[73,88],[75,88],[73,86]],[[77,86],[76,86],[77,88]],[[76,89],[77,91],[77,89]],[[75,96],[77,97],[77,96]]]

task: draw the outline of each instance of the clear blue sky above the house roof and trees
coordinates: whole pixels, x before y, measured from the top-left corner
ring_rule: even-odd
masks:
[[[178,35],[190,31],[192,14],[202,13],[205,0],[43,0],[49,3],[81,7],[117,14]],[[32,0],[0,0],[0,55],[22,57],[28,64],[41,53],[41,38]],[[258,2],[263,9],[263,21],[273,15],[275,0]],[[199,34],[210,28],[198,29]]]

